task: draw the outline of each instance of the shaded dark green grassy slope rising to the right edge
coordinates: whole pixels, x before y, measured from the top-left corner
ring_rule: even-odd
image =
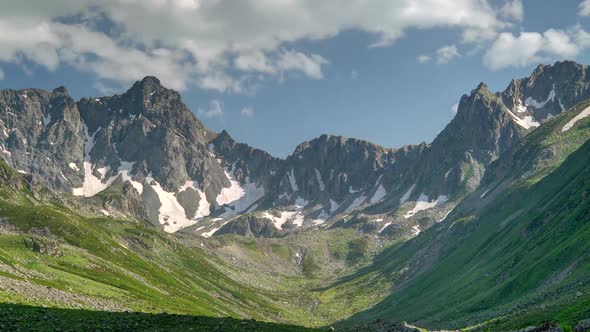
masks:
[[[561,133],[585,106],[515,149],[512,157],[527,162],[517,163],[512,186],[483,210],[378,256],[360,275],[376,274],[373,282],[387,280],[394,291],[349,322],[457,328],[489,321],[495,330],[590,317],[590,143],[583,144],[590,120]],[[548,158],[528,162],[548,150]]]

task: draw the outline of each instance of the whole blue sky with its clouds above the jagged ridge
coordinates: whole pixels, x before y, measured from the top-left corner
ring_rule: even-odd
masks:
[[[0,88],[80,98],[155,75],[208,128],[280,157],[323,133],[429,142],[480,81],[590,62],[590,1],[71,1],[3,5]]]

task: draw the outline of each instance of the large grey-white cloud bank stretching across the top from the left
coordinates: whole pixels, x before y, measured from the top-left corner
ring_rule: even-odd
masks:
[[[329,59],[285,49],[295,41],[358,29],[375,36],[373,46],[388,46],[412,28],[503,26],[488,0],[21,0],[0,12],[0,61],[244,92],[289,72],[323,78]]]

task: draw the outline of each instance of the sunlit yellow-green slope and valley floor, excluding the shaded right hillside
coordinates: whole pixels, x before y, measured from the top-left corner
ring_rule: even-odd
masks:
[[[0,166],[21,184],[0,186],[0,278],[6,278],[0,302],[322,326],[378,300],[314,291],[366,265],[378,250],[355,230],[282,239],[173,236],[147,223],[86,217],[36,199],[21,175]],[[63,294],[47,295],[39,286]]]

